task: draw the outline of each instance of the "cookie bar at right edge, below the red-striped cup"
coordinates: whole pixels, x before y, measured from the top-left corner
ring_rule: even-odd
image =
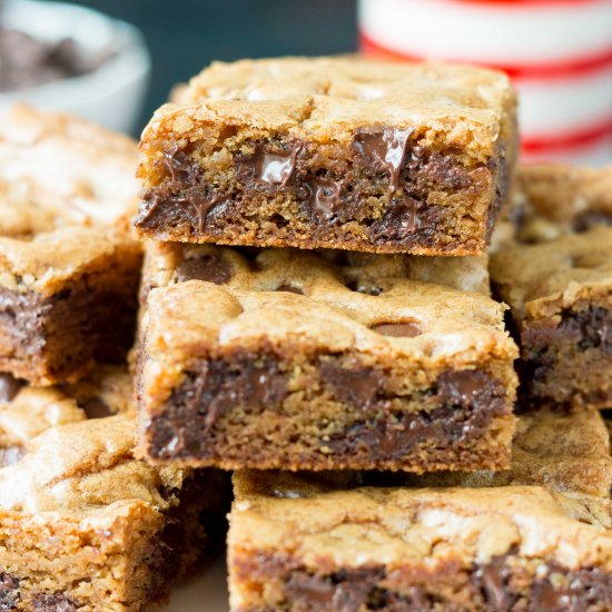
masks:
[[[611,406],[612,167],[535,166],[517,184],[491,277],[521,345],[522,401]]]

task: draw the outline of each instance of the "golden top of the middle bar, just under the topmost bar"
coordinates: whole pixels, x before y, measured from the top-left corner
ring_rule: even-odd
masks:
[[[505,307],[462,290],[484,289],[484,258],[448,260],[445,268],[425,257],[148,248],[145,290],[157,288],[148,295],[147,345],[161,343],[165,353],[292,337],[427,363],[471,351],[507,358],[515,353],[503,326]],[[450,286],[435,284],[443,282]],[[175,318],[180,324],[168,325]]]

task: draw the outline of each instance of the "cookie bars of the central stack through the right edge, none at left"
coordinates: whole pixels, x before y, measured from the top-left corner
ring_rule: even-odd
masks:
[[[612,171],[516,147],[504,76],[355,58],[151,119],[139,452],[235,471],[234,612],[612,609]]]

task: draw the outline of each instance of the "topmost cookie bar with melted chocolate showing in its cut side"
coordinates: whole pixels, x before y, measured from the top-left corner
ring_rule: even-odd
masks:
[[[515,95],[500,72],[214,63],[144,132],[135,223],[168,241],[480,254],[515,141]]]

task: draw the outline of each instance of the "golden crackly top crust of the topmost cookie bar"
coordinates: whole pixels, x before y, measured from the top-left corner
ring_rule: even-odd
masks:
[[[223,118],[320,142],[348,142],[356,128],[372,125],[422,126],[486,155],[514,105],[501,72],[357,57],[215,62],[174,99],[155,115],[145,142],[165,130],[190,138],[199,122]]]

